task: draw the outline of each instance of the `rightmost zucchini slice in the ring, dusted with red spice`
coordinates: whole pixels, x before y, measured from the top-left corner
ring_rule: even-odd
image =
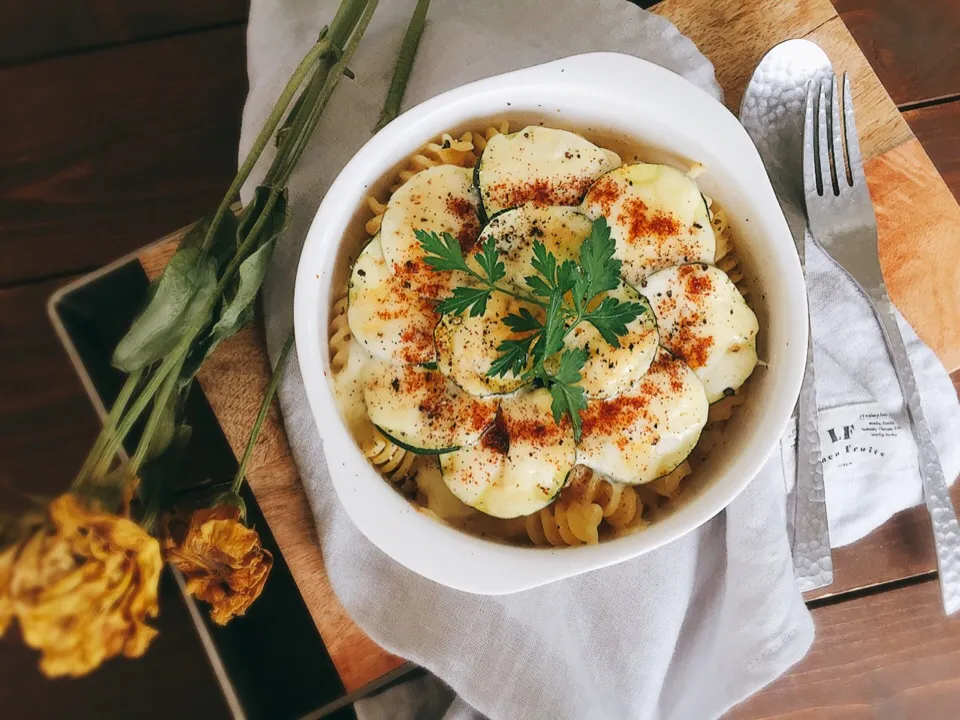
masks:
[[[667,268],[648,277],[643,292],[661,344],[693,369],[710,402],[750,377],[757,365],[757,316],[725,272],[703,264]]]

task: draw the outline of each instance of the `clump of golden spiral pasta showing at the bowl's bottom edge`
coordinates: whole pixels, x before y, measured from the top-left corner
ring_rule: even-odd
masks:
[[[610,482],[582,465],[560,497],[526,520],[534,545],[583,545],[600,541],[601,526],[622,530],[640,518],[643,503],[632,485]]]

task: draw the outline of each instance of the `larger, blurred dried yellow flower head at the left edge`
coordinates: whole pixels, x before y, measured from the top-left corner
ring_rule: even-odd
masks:
[[[4,612],[16,617],[49,677],[139,657],[157,634],[147,618],[162,568],[159,543],[135,522],[61,495],[48,524],[0,555],[0,628]]]

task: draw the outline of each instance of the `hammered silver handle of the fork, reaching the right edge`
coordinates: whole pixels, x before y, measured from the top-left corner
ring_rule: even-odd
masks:
[[[897,325],[893,303],[883,287],[873,289],[869,295],[873,310],[880,320],[887,349],[893,358],[893,367],[900,381],[913,437],[917,442],[923,497],[933,526],[933,543],[940,573],[940,594],[944,611],[951,615],[960,610],[960,525],[957,523],[953,503],[950,502],[950,491],[937,449],[930,436],[930,426],[923,415],[917,381],[907,356],[907,346]]]

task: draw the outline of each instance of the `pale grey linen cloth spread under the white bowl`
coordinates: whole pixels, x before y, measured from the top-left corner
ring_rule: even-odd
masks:
[[[241,158],[335,5],[253,0]],[[413,5],[381,0],[351,63],[356,79],[337,90],[291,179],[293,222],[264,299],[273,357],[292,325],[304,235],[323,193],[370,136]],[[474,79],[592,50],[645,57],[720,96],[712,66],[688,39],[622,0],[433,0],[405,106]],[[244,200],[265,167],[261,163],[244,188]],[[912,350],[925,352],[911,340]],[[930,366],[930,357],[926,351],[920,365]],[[823,367],[823,375],[831,372]],[[860,373],[851,367],[850,374]],[[359,714],[438,717],[447,708],[448,717],[712,718],[780,675],[812,641],[813,625],[792,576],[779,453],[724,513],[668,547],[535,590],[481,597],[407,571],[346,517],[295,357],[279,396],[337,596],[380,645],[452,688],[427,677],[358,703]]]

